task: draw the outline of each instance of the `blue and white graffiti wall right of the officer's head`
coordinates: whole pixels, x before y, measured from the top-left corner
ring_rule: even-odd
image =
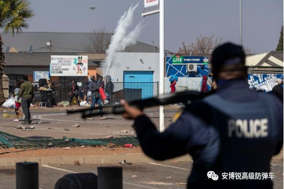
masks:
[[[278,84],[278,79],[283,79],[283,74],[249,74],[249,87],[255,90],[268,92]]]

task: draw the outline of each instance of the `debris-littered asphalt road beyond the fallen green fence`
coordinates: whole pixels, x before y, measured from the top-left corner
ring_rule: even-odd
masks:
[[[170,120],[175,111],[166,111],[165,113],[165,127],[170,125]],[[6,112],[0,112],[3,114]],[[158,111],[150,110],[146,111],[148,116],[152,119],[156,125],[158,125]],[[9,113],[14,115],[14,113]],[[46,138],[102,138],[108,135],[114,137],[135,135],[132,128],[133,121],[124,119],[120,115],[108,115],[106,120],[101,120],[100,117],[94,117],[93,120],[82,119],[79,114],[67,115],[65,112],[44,112],[34,111],[31,112],[32,119],[34,119],[32,125],[36,126],[33,130],[21,130],[16,129],[18,125],[21,125],[22,121],[13,121],[15,117],[0,117],[0,131],[7,132],[12,135],[20,137],[46,137]],[[41,124],[36,124],[40,120]],[[79,124],[80,127],[74,128],[72,125]],[[68,128],[69,131],[64,131]],[[120,133],[122,130],[129,130],[130,133]],[[132,132],[132,133],[131,133]]]

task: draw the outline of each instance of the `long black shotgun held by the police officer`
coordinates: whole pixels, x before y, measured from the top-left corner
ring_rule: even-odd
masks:
[[[141,100],[133,100],[128,102],[130,106],[136,107],[140,110],[144,108],[150,108],[155,106],[165,106],[173,103],[184,103],[189,104],[193,101],[200,100],[211,93],[200,93],[197,91],[184,91],[184,92],[176,92],[169,93],[164,95],[159,95],[153,98],[141,99]],[[123,114],[125,109],[120,104],[116,104],[114,106],[106,105],[103,106],[103,114]],[[88,109],[80,109],[80,110],[66,110],[67,114],[74,113],[82,113],[83,118],[93,117],[100,115],[99,112],[94,112],[93,110],[98,110],[99,107],[88,108]]]

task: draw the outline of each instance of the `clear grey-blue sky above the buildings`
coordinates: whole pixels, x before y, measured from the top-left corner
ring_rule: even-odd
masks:
[[[30,0],[35,16],[29,32],[91,32],[106,27],[113,32],[121,15],[140,3],[133,23],[144,19],[139,41],[159,44],[159,15],[141,17],[143,0]],[[275,50],[283,24],[283,0],[242,0],[242,41],[251,53]],[[166,0],[165,48],[177,52],[182,42],[190,44],[199,35],[239,43],[239,0]]]

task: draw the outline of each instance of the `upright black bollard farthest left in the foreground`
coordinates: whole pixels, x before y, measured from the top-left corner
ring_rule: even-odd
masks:
[[[38,189],[38,163],[16,163],[16,189]]]

